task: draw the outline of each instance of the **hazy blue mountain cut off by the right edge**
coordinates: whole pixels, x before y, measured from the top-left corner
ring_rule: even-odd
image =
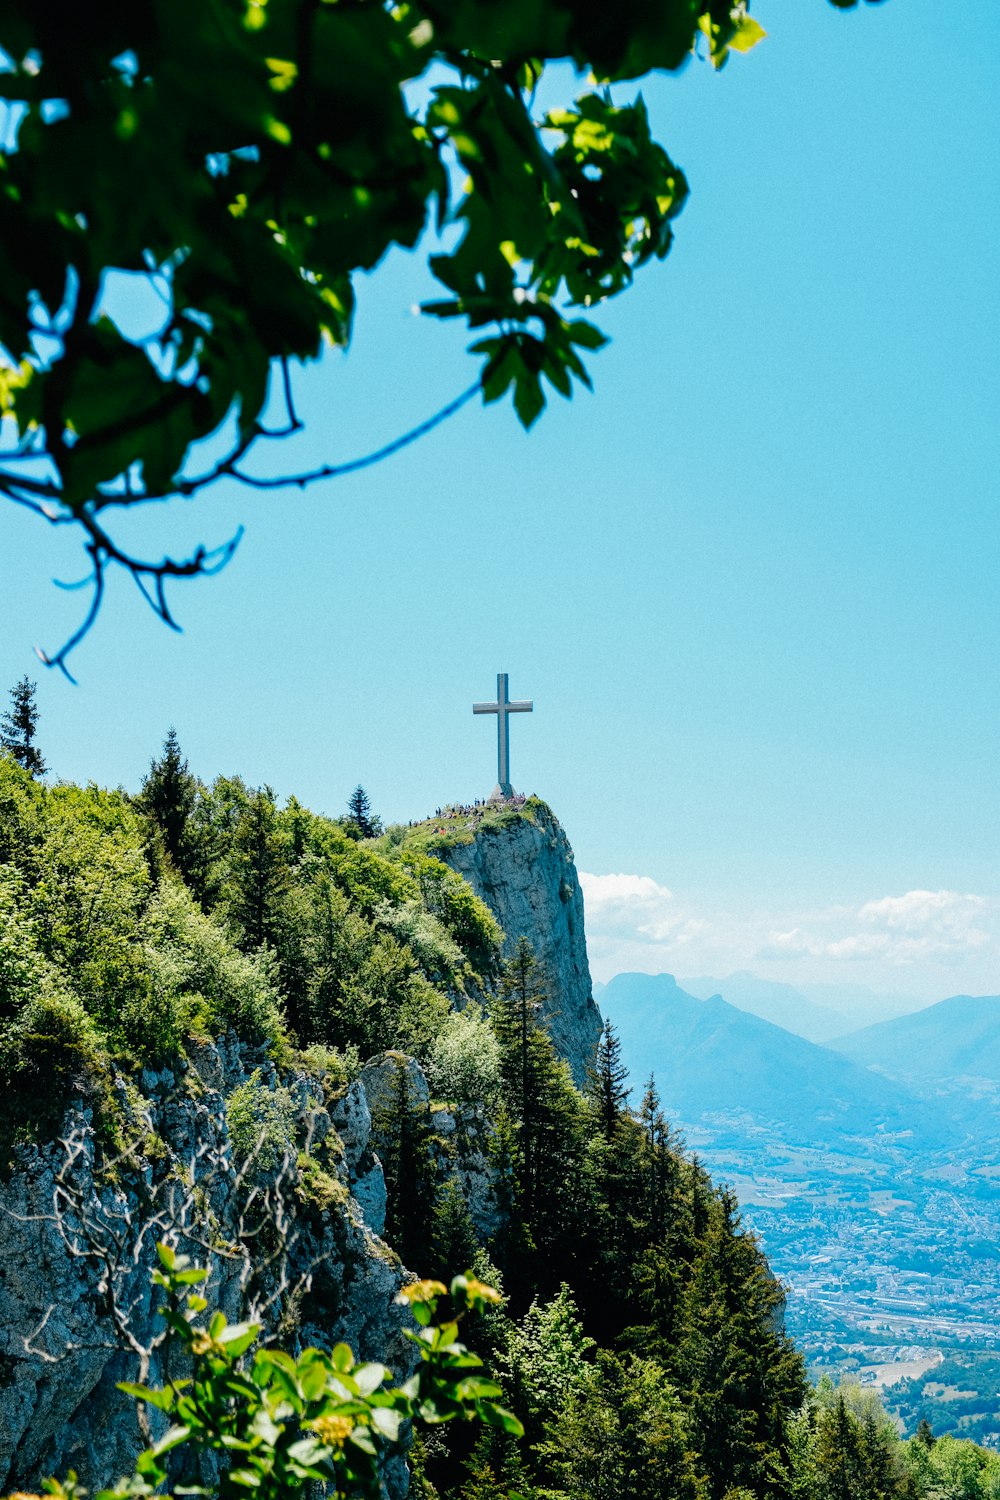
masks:
[[[915,1016],[879,1022],[831,1042],[837,1052],[892,1078],[960,1084],[1000,1083],[1000,996],[954,994]]]

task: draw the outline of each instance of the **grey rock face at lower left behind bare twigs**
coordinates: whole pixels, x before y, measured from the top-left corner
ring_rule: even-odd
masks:
[[[295,1148],[306,1134],[313,1160],[322,1162],[312,1173],[291,1164],[283,1180],[280,1172],[265,1172],[259,1212],[247,1209],[250,1179],[240,1180],[225,1107],[249,1080],[262,1095],[291,1100]],[[324,1100],[318,1080],[279,1083],[265,1058],[229,1038],[196,1048],[181,1077],[147,1072],[142,1086],[145,1100],[130,1101],[145,1131],[136,1167],[108,1172],[105,1160],[102,1170],[84,1110],[66,1118],[63,1142],[21,1149],[16,1170],[0,1186],[0,1491],[36,1491],[42,1478],[67,1468],[94,1490],[130,1470],[145,1444],[135,1402],[115,1382],[136,1378],[129,1338],[148,1347],[162,1326],[150,1287],[154,1240],[169,1238],[178,1222],[180,1248],[202,1262],[210,1242],[234,1245],[250,1234],[250,1294],[270,1300],[264,1324],[280,1329],[286,1347],[345,1340],[361,1358],[378,1356],[397,1372],[412,1364],[400,1332],[406,1314],[394,1305],[406,1272],[378,1239],[385,1186],[370,1149],[363,1084]],[[69,1173],[64,1143],[73,1155]],[[183,1188],[172,1192],[171,1182]],[[252,1238],[255,1212],[265,1228],[285,1216],[289,1251],[280,1264],[267,1262],[264,1236]],[[142,1224],[151,1232],[139,1233]],[[100,1264],[94,1251],[103,1256]],[[213,1300],[238,1317],[247,1257],[210,1256],[208,1263]],[[127,1318],[126,1338],[111,1316],[108,1282]],[[154,1353],[150,1380],[160,1378]],[[390,1494],[405,1494],[402,1461],[387,1480]]]

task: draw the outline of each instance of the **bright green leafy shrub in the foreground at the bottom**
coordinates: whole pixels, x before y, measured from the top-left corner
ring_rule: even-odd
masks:
[[[168,1474],[175,1476],[174,1492],[217,1492],[220,1500],[247,1490],[261,1500],[286,1500],[318,1484],[330,1496],[379,1500],[379,1460],[399,1448],[403,1424],[480,1420],[520,1431],[498,1404],[499,1388],[483,1372],[481,1359],[459,1341],[459,1322],[496,1298],[472,1275],[454,1276],[450,1288],[439,1281],[403,1287],[400,1300],[417,1322],[405,1332],[418,1358],[414,1374],[393,1386],[385,1365],[358,1364],[346,1344],[330,1353],[306,1348],[292,1359],[273,1348],[252,1353],[259,1329],[229,1323],[223,1312],[199,1323],[207,1300],[195,1288],[207,1272],[169,1245],[157,1250],[162,1269],[153,1280],[165,1292],[160,1314],[190,1376],[160,1388],[121,1386],[162,1412],[169,1426],[139,1455],[133,1474],[94,1500],[153,1496]],[[450,1314],[436,1322],[445,1306]],[[213,1490],[202,1480],[202,1454],[225,1460]],[[58,1500],[79,1496],[75,1476],[48,1488]]]

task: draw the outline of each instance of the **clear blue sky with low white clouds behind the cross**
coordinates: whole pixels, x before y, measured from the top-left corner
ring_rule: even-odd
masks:
[[[120,580],[73,668],[75,543],[7,508],[0,686],[39,676],[55,776],[136,788],[168,724],[240,771],[387,820],[489,794],[498,670],[534,716],[511,771],[588,873],[595,972],[750,968],[930,999],[1000,992],[1000,33],[996,0],[757,0],[769,39],[646,86],[691,200],[603,324],[595,394],[531,435],[466,408],[316,490],[130,522],[247,528],[178,586]],[[360,288],[304,380],[297,460],[396,436],[472,378]],[[616,878],[616,879],[610,879]]]

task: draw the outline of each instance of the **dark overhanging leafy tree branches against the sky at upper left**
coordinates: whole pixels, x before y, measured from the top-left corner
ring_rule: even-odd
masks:
[[[604,336],[579,310],[667,255],[687,195],[628,86],[762,36],[745,0],[4,6],[0,492],[81,528],[84,628],[108,567],[172,622],[165,579],[234,546],[139,556],[121,507],[337,472],[265,476],[253,450],[301,428],[295,364],[349,342],[352,279],[393,244],[426,246],[423,310],[475,333],[457,404],[513,392],[531,426],[543,381],[589,384]],[[142,333],[123,276],[159,298]]]

